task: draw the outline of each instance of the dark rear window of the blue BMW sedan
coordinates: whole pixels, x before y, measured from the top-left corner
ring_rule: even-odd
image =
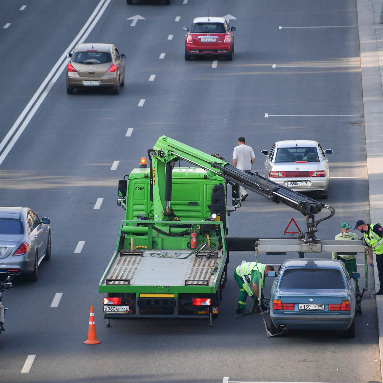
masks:
[[[283,273],[279,288],[344,289],[339,270],[290,269]]]

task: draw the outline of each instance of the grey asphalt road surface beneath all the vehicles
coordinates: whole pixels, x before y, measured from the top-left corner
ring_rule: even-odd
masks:
[[[64,71],[51,83],[48,78],[49,89],[36,93],[39,105],[23,114],[98,5],[102,14],[85,42],[115,43],[126,53],[125,87],[119,95],[105,90],[67,95]],[[237,27],[231,62],[183,58],[182,27],[208,9],[210,15],[237,19],[229,21]],[[135,15],[145,20],[131,26],[126,19]],[[28,119],[22,131],[16,125],[12,134],[18,139],[0,145],[0,201],[30,206],[51,219],[52,231],[52,258],[40,264],[38,282],[16,280],[3,295],[9,310],[0,339],[1,381],[213,383],[225,376],[235,381],[380,381],[370,295],[356,319],[355,339],[336,331],[291,331],[267,339],[257,314],[235,320],[238,288],[232,273],[242,260],[254,260],[251,252],[230,254],[229,280],[213,329],[201,319],[111,321],[112,327],[105,328],[98,293],[124,218],[116,205],[118,179],[137,167],[162,134],[228,160],[237,138],[245,136],[257,156],[253,169],[261,174],[259,153],[275,141],[318,140],[334,150],[327,203],[336,208],[336,215],[319,225],[318,237],[333,239],[344,221],[368,221],[354,0],[173,0],[169,6],[3,0],[0,27],[0,140],[20,115]],[[142,107],[140,100],[145,100]],[[114,161],[119,162],[111,170]],[[94,209],[98,198],[103,198],[101,206]],[[300,213],[250,194],[231,215],[229,234],[282,236],[292,217],[305,227]],[[75,253],[79,241],[85,243]],[[275,265],[285,258],[259,255],[261,262]],[[362,255],[357,262],[363,276]],[[370,272],[369,293],[372,278]],[[266,281],[266,293],[271,284]],[[56,293],[62,293],[61,300],[51,307]],[[90,305],[101,340],[94,346],[83,344]],[[28,355],[36,357],[29,372],[21,373]]]

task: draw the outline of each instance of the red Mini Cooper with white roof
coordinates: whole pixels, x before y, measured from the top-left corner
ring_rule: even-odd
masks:
[[[183,27],[186,35],[185,60],[192,56],[226,56],[233,59],[234,54],[234,31],[237,28],[229,28],[224,17],[196,17],[193,20],[190,31],[187,26]]]

